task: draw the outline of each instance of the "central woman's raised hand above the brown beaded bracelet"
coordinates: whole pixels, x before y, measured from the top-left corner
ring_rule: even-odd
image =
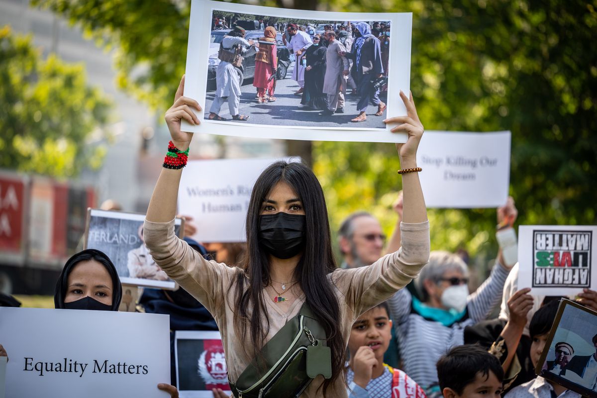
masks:
[[[417,108],[414,106],[413,93],[410,93],[410,98],[400,91],[400,97],[404,101],[404,105],[407,107],[407,116],[396,116],[395,118],[389,118],[384,120],[386,123],[399,123],[396,127],[393,127],[392,132],[406,132],[408,134],[407,142],[404,144],[396,144],[398,149],[398,155],[400,155],[400,161],[402,168],[410,167],[404,165],[407,162],[416,162],[417,159],[417,148],[418,143],[423,137],[423,131],[425,130],[423,124],[418,119]]]

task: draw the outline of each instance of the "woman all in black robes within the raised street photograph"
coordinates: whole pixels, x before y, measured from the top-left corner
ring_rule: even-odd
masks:
[[[321,35],[313,36],[313,45],[305,50],[307,67],[304,72],[304,91],[300,108],[327,109],[326,95],[324,94],[326,52],[327,47],[325,47]]]

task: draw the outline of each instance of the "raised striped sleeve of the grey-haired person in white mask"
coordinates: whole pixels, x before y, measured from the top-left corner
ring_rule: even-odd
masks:
[[[492,308],[496,306],[501,299],[504,290],[504,283],[510,270],[504,269],[500,263],[496,261],[496,266],[491,270],[490,276],[476,289],[475,292],[469,295],[467,300],[467,308],[469,310],[470,319],[474,322],[479,322],[486,319]]]

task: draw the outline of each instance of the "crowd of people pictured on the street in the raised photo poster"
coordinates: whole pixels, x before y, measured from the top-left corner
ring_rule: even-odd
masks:
[[[227,101],[235,121],[247,121],[250,115],[239,113],[241,80],[235,68],[242,57],[255,57],[256,102],[276,101],[278,47],[290,50],[294,63],[291,78],[300,95],[298,109],[319,110],[321,116],[349,112],[344,110],[344,94],[358,96],[356,116],[352,122],[367,120],[367,108],[374,106],[373,115],[383,116],[386,103],[381,100],[387,91],[390,23],[355,22],[301,24],[294,22],[247,21],[256,30],[263,30],[258,40],[245,39],[247,25],[234,21],[221,42],[216,70],[216,94],[207,116],[223,121],[219,115]],[[226,26],[224,18],[214,17],[214,29]],[[251,27],[251,26],[249,26]],[[224,29],[224,28],[222,28]],[[279,35],[278,32],[283,32]]]

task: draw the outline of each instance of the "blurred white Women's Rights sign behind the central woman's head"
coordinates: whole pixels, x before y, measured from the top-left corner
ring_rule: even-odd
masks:
[[[179,214],[190,215],[198,242],[245,242],[245,218],[257,177],[278,159],[190,161],[180,178]],[[300,161],[288,158],[287,161]]]

